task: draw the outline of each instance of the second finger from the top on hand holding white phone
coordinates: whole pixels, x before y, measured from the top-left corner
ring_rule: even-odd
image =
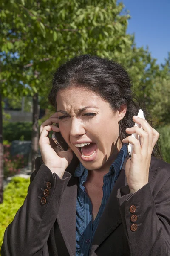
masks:
[[[146,131],[142,130],[141,128],[139,128],[137,126],[133,126],[131,128],[127,128],[126,133],[127,134],[137,134],[137,135],[139,135],[140,140],[141,140],[142,151],[143,152],[148,151],[149,140],[148,140],[148,134],[147,134]]]

